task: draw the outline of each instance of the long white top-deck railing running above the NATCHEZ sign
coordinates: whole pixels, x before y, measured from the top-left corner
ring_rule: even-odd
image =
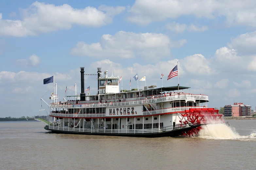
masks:
[[[142,99],[144,98],[144,99]],[[194,98],[195,100],[202,99],[208,100],[207,95],[201,94],[178,94],[178,95],[169,95],[169,96],[162,96],[161,97],[154,97],[150,99],[145,99],[145,97],[138,97],[140,100],[131,100],[128,101],[130,98],[127,98],[126,101],[121,102],[110,102],[110,103],[89,103],[92,101],[82,101],[87,102],[87,104],[51,104],[51,107],[59,107],[59,108],[78,108],[78,107],[106,107],[106,106],[127,106],[127,105],[140,105],[140,104],[150,104],[150,103],[157,103],[157,102],[165,102],[165,101],[172,101],[172,100],[186,100],[187,98]],[[132,98],[136,99],[136,98]],[[80,102],[80,101],[79,101]],[[95,101],[93,101],[95,102]]]

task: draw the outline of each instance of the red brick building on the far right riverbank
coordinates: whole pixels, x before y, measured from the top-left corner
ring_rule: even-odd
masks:
[[[224,116],[252,116],[251,106],[243,103],[234,103],[234,105],[224,106]]]

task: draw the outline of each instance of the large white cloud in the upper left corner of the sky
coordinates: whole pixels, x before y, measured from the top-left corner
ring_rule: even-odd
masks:
[[[30,7],[21,10],[22,20],[4,20],[0,13],[0,36],[38,35],[70,29],[74,24],[100,27],[111,23],[112,18],[124,11],[125,7],[100,6],[99,9],[94,7],[76,9],[68,4],[55,6],[36,1]]]

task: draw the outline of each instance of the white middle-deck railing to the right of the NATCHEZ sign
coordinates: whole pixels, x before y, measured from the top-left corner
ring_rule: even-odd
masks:
[[[146,116],[146,115],[156,115],[161,113],[179,112],[179,111],[189,110],[190,108],[208,108],[208,107],[199,107],[199,106],[171,107],[171,108],[164,108],[164,109],[158,109],[158,110],[143,111],[142,115]]]

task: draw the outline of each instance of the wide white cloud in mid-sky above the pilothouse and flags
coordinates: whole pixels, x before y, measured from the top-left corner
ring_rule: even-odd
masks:
[[[102,35],[98,43],[78,42],[70,53],[88,57],[133,58],[140,56],[155,59],[170,55],[171,47],[180,47],[185,43],[186,40],[175,42],[163,34],[119,31],[115,35]]]

